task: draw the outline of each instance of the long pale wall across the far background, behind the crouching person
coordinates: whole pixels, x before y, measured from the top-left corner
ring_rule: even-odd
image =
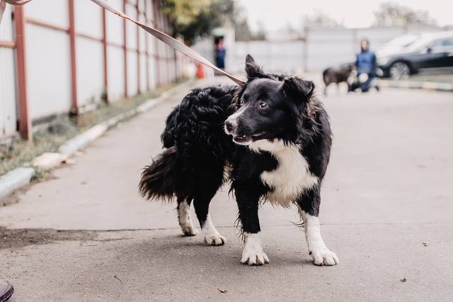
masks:
[[[225,40],[226,69],[243,72],[244,60],[248,53],[253,55],[265,70],[273,72],[319,72],[322,69],[355,60],[362,38],[368,38],[371,47],[379,47],[406,33],[429,33],[447,28],[435,26],[371,27],[371,28],[313,28],[305,30],[300,40]],[[233,33],[234,35],[234,33]],[[197,49],[207,57],[213,57],[212,39],[198,43]]]

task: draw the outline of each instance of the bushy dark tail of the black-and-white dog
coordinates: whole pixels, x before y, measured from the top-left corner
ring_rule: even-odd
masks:
[[[180,172],[176,146],[169,147],[144,168],[139,182],[140,194],[147,199],[162,198],[166,201],[175,195],[188,198],[190,193],[181,182]]]

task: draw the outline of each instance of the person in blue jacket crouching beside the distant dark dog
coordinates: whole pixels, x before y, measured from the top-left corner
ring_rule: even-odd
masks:
[[[360,41],[360,52],[357,54],[355,67],[362,92],[367,92],[372,80],[376,77],[377,69],[376,55],[374,55],[372,50],[369,50],[369,41],[367,39]],[[379,91],[379,86],[375,85],[374,87]]]

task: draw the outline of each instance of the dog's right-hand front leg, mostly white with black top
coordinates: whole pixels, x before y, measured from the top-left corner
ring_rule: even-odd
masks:
[[[323,237],[321,237],[318,218],[320,202],[319,186],[304,192],[297,202],[300,216],[304,221],[306,243],[314,264],[336,265],[339,263],[337,255],[327,248]]]

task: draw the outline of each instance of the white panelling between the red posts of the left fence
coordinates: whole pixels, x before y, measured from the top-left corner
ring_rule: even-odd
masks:
[[[158,0],[154,0],[158,1]],[[25,56],[27,95],[30,118],[45,118],[53,114],[67,113],[71,108],[71,52],[69,41],[69,1],[31,1],[24,6],[25,17],[32,22],[25,24]],[[122,0],[109,0],[109,3],[122,11]],[[145,5],[145,3],[147,5]],[[132,18],[146,22],[143,14],[137,14],[135,4],[145,11],[149,20],[154,18],[151,0],[128,1],[126,13]],[[159,12],[156,12],[159,13]],[[74,21],[76,32],[76,86],[79,108],[101,101],[105,90],[103,52],[103,12],[91,1],[74,1]],[[125,53],[123,50],[123,19],[113,13],[106,13],[108,96],[117,101],[125,95]],[[33,24],[48,24],[50,27]],[[127,30],[127,95],[134,96],[148,87],[166,84],[176,78],[173,50],[159,44],[161,62],[156,62],[156,39],[139,29],[134,23],[126,22]],[[59,28],[59,29],[57,29]],[[87,37],[88,36],[88,37]],[[11,6],[7,6],[0,26],[0,41],[14,40],[11,21]],[[139,54],[137,54],[137,43]],[[148,51],[149,57],[146,52]],[[16,132],[18,121],[16,50],[0,47],[0,138]],[[156,67],[160,66],[159,74]],[[183,68],[180,68],[182,73]],[[140,78],[140,79],[139,79]]]

